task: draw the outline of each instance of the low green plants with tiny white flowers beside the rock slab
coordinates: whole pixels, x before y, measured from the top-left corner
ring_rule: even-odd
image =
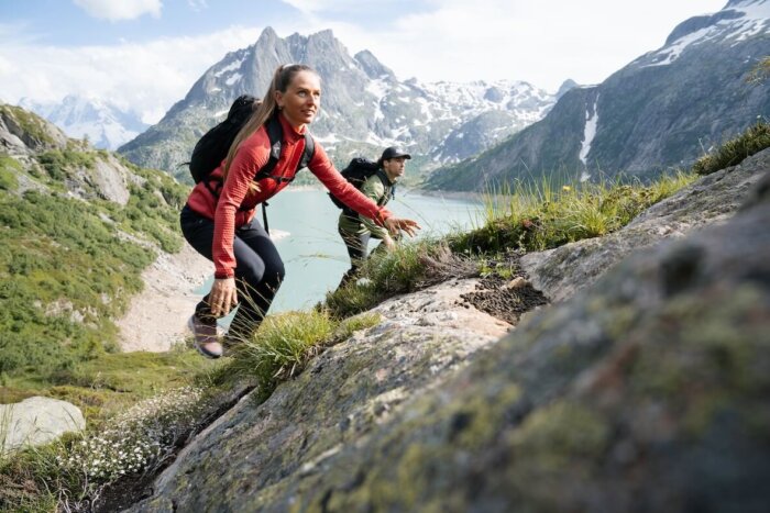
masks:
[[[199,388],[166,390],[84,435],[0,455],[1,511],[85,511],[106,486],[155,470],[209,409]]]

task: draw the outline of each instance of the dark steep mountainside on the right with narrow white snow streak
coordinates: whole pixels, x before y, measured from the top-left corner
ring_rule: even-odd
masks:
[[[598,86],[564,93],[539,122],[438,170],[428,188],[485,190],[558,177],[651,178],[770,115],[770,82],[748,83],[770,55],[770,1],[733,0],[680,23],[666,44]]]

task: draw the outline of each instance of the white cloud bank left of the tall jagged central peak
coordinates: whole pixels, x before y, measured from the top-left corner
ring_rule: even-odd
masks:
[[[200,37],[75,48],[0,46],[0,97],[16,103],[61,101],[76,93],[109,100],[156,123],[228,52],[254,44],[257,29],[230,27]]]

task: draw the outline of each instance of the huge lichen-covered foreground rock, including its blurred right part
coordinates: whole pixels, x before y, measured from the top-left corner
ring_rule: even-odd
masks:
[[[132,510],[767,511],[770,199],[752,202],[497,343],[436,289],[392,300]]]

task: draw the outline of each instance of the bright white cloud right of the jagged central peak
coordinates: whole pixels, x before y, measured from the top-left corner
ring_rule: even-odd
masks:
[[[370,49],[400,78],[518,79],[556,91],[604,80],[663,45],[673,27],[724,0],[428,0],[430,9],[372,26],[334,20],[351,0],[287,0],[308,32],[331,27],[351,52]],[[425,7],[425,5],[424,5]]]

